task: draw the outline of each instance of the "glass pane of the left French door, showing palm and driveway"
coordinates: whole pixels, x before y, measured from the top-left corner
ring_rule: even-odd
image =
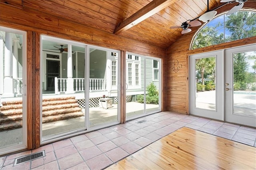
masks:
[[[216,58],[196,59],[196,108],[216,109]]]

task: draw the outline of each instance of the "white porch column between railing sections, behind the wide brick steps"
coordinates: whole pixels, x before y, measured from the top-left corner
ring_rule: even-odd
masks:
[[[67,91],[66,94],[75,93],[74,92],[74,82],[73,82],[73,64],[72,64],[72,45],[68,44],[68,80],[67,80]]]

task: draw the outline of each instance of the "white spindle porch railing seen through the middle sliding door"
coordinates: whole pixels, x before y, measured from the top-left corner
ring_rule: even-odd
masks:
[[[65,93],[67,91],[68,79],[57,78],[54,79],[55,94]],[[90,79],[90,91],[105,91],[107,79]],[[73,78],[74,92],[84,91],[84,79]]]

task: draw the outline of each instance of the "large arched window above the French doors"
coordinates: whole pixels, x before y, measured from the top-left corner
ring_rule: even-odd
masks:
[[[195,34],[190,49],[256,36],[256,10],[222,13],[204,24]]]

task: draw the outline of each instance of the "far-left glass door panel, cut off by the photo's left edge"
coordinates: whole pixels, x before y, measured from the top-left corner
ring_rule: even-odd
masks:
[[[26,148],[26,32],[0,27],[0,155]]]

